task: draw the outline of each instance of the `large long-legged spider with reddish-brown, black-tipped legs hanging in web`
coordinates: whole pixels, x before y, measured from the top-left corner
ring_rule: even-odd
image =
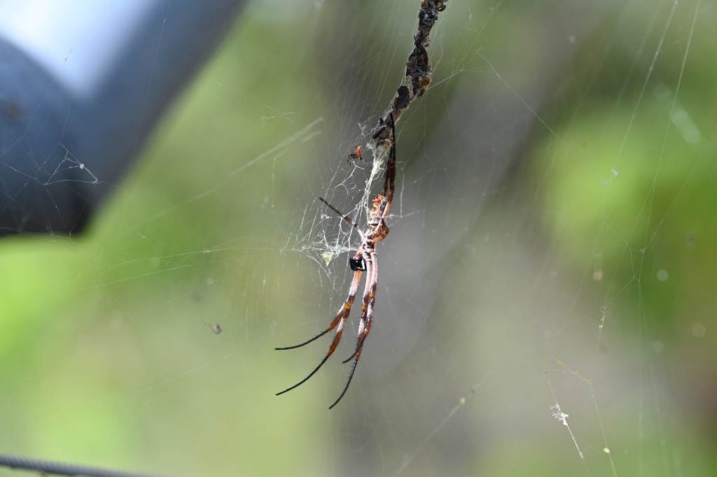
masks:
[[[369,218],[366,221],[366,231],[361,231],[359,226],[356,225],[351,218],[348,218],[347,215],[343,215],[343,213],[338,211],[336,207],[326,202],[323,198],[319,198],[320,201],[328,206],[328,208],[331,208],[331,210],[338,213],[343,220],[351,223],[353,228],[356,228],[356,231],[359,232],[359,236],[361,236],[361,246],[359,246],[359,250],[356,251],[356,254],[348,259],[348,266],[350,266],[351,270],[354,272],[353,280],[351,280],[351,286],[348,287],[348,298],[346,298],[346,302],[343,302],[343,305],[341,305],[341,308],[338,310],[338,314],[336,314],[336,318],[333,319],[333,322],[331,322],[331,324],[328,325],[328,328],[323,330],[323,332],[320,332],[308,341],[301,344],[295,344],[294,346],[276,348],[276,350],[294,350],[295,348],[300,348],[305,344],[309,344],[315,339],[322,337],[324,334],[331,332],[331,330],[336,329],[336,334],[333,337],[331,346],[328,348],[328,353],[326,353],[326,356],[323,360],[321,360],[318,366],[297,384],[283,390],[282,392],[277,392],[277,396],[282,395],[285,392],[289,392],[290,390],[295,389],[295,387],[303,385],[303,383],[308,381],[310,377],[316,374],[320,367],[328,361],[328,358],[333,355],[333,352],[336,351],[336,347],[338,347],[338,343],[341,341],[341,334],[343,334],[343,326],[346,324],[348,314],[351,313],[351,305],[353,305],[353,299],[356,298],[356,291],[358,291],[359,284],[361,283],[361,275],[364,274],[365,271],[366,288],[364,289],[364,302],[361,304],[361,320],[359,322],[358,336],[356,337],[356,349],[347,360],[343,361],[343,363],[346,363],[353,360],[353,365],[351,366],[351,372],[348,375],[346,386],[343,387],[341,395],[339,395],[338,399],[334,401],[331,406],[329,406],[329,409],[338,404],[343,395],[346,394],[348,385],[351,384],[353,372],[356,371],[356,364],[359,362],[359,357],[361,357],[361,351],[364,350],[364,342],[366,342],[366,337],[368,337],[369,332],[371,332],[371,322],[374,319],[374,302],[376,301],[376,283],[379,277],[379,264],[376,258],[376,244],[389,234],[389,227],[386,226],[386,217],[389,215],[391,202],[394,199],[394,184],[396,182],[396,128],[392,112],[389,117],[391,120],[391,149],[389,150],[389,160],[386,162],[384,191],[383,193],[374,196],[371,201],[371,212],[369,213]]]

